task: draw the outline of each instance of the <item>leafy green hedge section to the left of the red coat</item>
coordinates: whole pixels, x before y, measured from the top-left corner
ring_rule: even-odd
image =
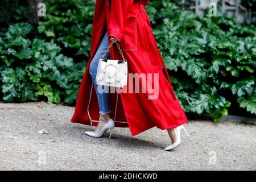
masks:
[[[94,3],[44,2],[49,8],[38,26],[15,23],[0,34],[3,101],[47,100],[67,104],[76,101],[90,54]],[[11,2],[7,7],[19,20],[26,20],[26,13],[15,13],[24,6],[15,5]],[[16,22],[15,19],[11,20]]]

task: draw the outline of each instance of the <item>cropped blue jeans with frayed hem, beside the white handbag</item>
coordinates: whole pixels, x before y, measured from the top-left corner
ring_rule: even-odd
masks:
[[[96,74],[98,68],[98,61],[100,57],[104,55],[104,52],[109,47],[108,43],[108,32],[105,33],[103,39],[101,40],[100,46],[96,52],[96,55],[93,57],[92,62],[90,63],[89,73],[92,76],[92,81],[94,83],[94,88],[96,90],[97,98],[98,98],[98,105],[100,107],[100,114],[107,114],[111,113],[110,109],[110,101],[109,101],[109,92],[101,93],[98,92],[98,87],[101,86],[100,90],[108,90],[109,86],[105,85],[97,85],[96,83]],[[105,56],[106,59],[110,59],[110,53],[108,52]]]

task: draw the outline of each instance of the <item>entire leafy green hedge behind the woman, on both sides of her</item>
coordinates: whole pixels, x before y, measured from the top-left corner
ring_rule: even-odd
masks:
[[[94,4],[52,0],[47,7],[38,26],[20,22],[26,14],[17,14],[12,21],[20,23],[0,33],[5,102],[75,104],[90,53]],[[147,12],[187,113],[213,114],[215,121],[228,112],[255,116],[255,26],[237,25],[224,14],[199,17],[166,0],[149,2]]]

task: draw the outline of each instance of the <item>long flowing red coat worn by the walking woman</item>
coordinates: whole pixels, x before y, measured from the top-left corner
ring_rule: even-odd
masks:
[[[133,0],[112,0],[111,5],[110,0],[96,1],[91,55],[82,78],[72,122],[92,126],[98,124],[99,107],[89,75],[89,65],[106,31],[109,37],[111,35],[119,40],[128,63],[128,73],[144,73],[147,78],[147,73],[159,73],[157,99],[148,99],[152,96],[149,90],[146,93],[110,93],[113,111],[110,117],[114,119],[115,126],[129,127],[131,135],[134,136],[154,126],[164,130],[188,121],[172,90],[170,77],[156,45],[150,19],[145,10],[148,1],[141,0],[133,4]],[[110,49],[110,57],[121,60],[115,44]],[[162,65],[168,79],[164,76]],[[154,78],[153,75],[152,85],[157,84]],[[143,86],[142,83],[139,81],[139,86]],[[121,90],[129,90],[131,86],[134,86],[133,82],[128,79],[127,86]]]

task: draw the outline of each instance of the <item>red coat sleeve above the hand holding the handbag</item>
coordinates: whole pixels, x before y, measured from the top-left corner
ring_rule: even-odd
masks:
[[[113,36],[118,42],[122,40],[127,8],[131,3],[133,3],[133,0],[112,0],[109,20],[109,38]]]

